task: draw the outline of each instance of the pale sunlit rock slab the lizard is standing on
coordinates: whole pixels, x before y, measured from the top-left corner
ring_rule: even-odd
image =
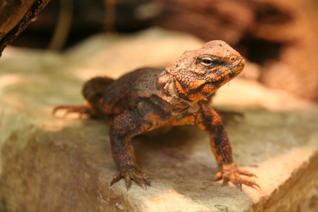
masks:
[[[238,78],[213,102],[244,114],[226,128],[235,162],[258,175],[260,192],[211,181],[209,138],[193,126],[134,138],[152,187],[133,182],[127,192],[121,180],[110,188],[109,127],[51,116],[56,105],[83,103],[81,85],[92,76],[164,67],[201,45],[149,30],[98,35],[64,54],[7,48],[0,60],[0,211],[315,211],[318,106],[283,91]]]

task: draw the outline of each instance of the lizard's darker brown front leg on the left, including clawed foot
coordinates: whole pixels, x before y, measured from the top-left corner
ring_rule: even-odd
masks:
[[[125,112],[114,118],[110,128],[110,144],[114,161],[118,168],[110,183],[112,186],[121,178],[125,179],[127,190],[130,181],[150,186],[147,174],[136,164],[131,138],[151,127],[136,111]]]

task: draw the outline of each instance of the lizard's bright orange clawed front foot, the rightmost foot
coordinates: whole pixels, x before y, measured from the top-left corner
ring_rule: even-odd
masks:
[[[259,185],[255,183],[253,179],[248,179],[246,177],[244,178],[244,177],[241,177],[240,175],[245,175],[248,177],[257,177],[255,174],[249,171],[240,169],[239,167],[236,166],[235,163],[230,163],[230,164],[223,165],[222,170],[216,173],[213,180],[217,181],[217,180],[223,179],[222,186],[224,186],[227,181],[230,181],[234,185],[239,187],[241,191],[242,191],[242,184],[245,184],[255,189],[257,189],[256,187],[258,187],[261,190]]]

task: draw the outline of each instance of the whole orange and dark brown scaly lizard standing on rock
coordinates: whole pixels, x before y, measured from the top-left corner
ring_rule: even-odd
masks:
[[[60,105],[54,108],[103,118],[110,125],[110,146],[118,172],[110,186],[124,178],[151,186],[147,174],[136,164],[131,138],[160,126],[197,125],[210,137],[217,162],[213,180],[230,181],[256,188],[253,173],[239,168],[232,158],[231,145],[217,111],[208,106],[211,95],[239,73],[245,59],[227,43],[210,41],[201,48],[186,51],[165,69],[141,68],[117,80],[95,77],[87,81],[82,94],[86,105]],[[241,176],[245,175],[245,177]]]

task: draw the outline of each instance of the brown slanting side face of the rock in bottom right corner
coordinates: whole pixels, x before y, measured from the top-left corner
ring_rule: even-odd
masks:
[[[313,190],[316,192],[311,195]],[[318,208],[318,152],[294,171],[283,185],[271,195],[262,197],[248,211],[315,211],[315,208]]]

